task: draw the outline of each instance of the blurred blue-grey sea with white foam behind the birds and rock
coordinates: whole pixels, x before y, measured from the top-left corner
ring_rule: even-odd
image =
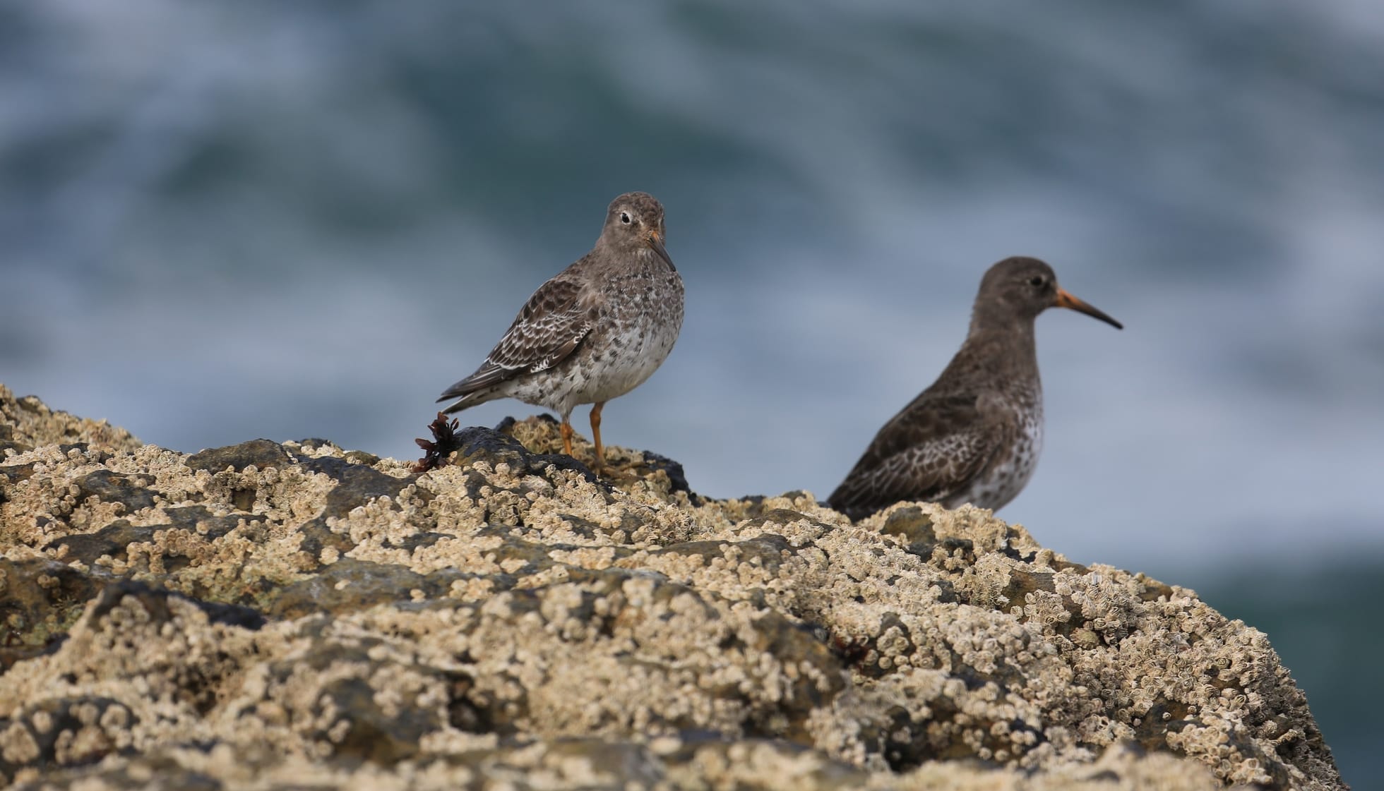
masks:
[[[688,314],[609,443],[825,498],[981,272],[1042,257],[1127,329],[1039,318],[1046,447],[1001,514],[1268,632],[1384,787],[1366,0],[0,0],[0,382],[180,451],[417,458],[627,189]]]

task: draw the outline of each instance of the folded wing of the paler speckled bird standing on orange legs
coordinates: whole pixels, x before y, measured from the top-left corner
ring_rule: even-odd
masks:
[[[552,368],[581,346],[591,325],[581,285],[558,275],[533,292],[480,368],[448,387],[437,400],[446,401],[520,373]]]

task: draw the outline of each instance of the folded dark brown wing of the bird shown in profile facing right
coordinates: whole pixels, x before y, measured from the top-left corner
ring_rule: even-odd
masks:
[[[984,469],[994,431],[976,396],[923,393],[879,430],[828,503],[858,517],[904,499],[944,499]]]

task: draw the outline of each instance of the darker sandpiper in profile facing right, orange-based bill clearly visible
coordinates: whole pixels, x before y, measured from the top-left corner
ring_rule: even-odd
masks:
[[[970,332],[927,390],[875,434],[828,503],[859,519],[900,501],[999,509],[1032,476],[1042,448],[1034,319],[1066,307],[1118,321],[1057,286],[1038,259],[1005,259],[980,281]]]

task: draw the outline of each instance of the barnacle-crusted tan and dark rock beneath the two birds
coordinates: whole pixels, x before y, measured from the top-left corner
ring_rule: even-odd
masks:
[[[0,783],[1344,788],[1262,633],[984,510],[0,415]]]

